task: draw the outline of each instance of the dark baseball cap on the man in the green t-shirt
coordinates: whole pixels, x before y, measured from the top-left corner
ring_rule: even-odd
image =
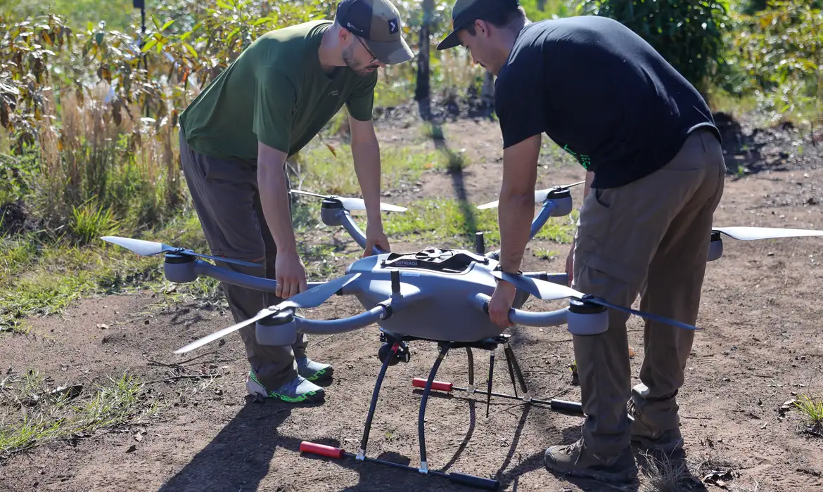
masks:
[[[407,62],[414,53],[402,37],[398,7],[388,0],[342,0],[337,3],[337,23],[363,39],[380,62]]]

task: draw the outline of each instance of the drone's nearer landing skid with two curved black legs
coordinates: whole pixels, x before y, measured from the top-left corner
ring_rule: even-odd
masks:
[[[384,337],[381,335],[381,339]],[[452,348],[454,344],[452,342],[438,342],[439,354],[437,355],[437,359],[435,360],[435,364],[431,367],[431,372],[429,374],[429,378],[424,380],[424,387],[423,390],[423,397],[420,403],[420,412],[417,417],[417,435],[420,441],[420,467],[416,468],[414,466],[403,465],[401,463],[394,463],[394,462],[387,462],[378,458],[367,457],[365,455],[365,448],[367,443],[369,442],[369,433],[371,430],[371,422],[374,418],[374,410],[377,407],[377,398],[380,392],[380,386],[383,384],[383,378],[386,374],[386,369],[388,369],[389,365],[397,364],[399,360],[404,362],[408,361],[408,351],[406,349],[406,344],[404,340],[395,340],[389,339],[388,340],[388,350],[381,348],[380,350],[380,359],[383,361],[383,365],[380,367],[380,373],[377,377],[377,382],[374,383],[374,391],[371,395],[371,404],[369,406],[369,413],[366,415],[365,420],[365,428],[363,429],[363,439],[360,440],[360,451],[357,454],[348,453],[341,448],[334,448],[332,446],[327,446],[324,444],[318,443],[308,443],[302,442],[300,443],[300,451],[303,453],[314,453],[320,456],[325,457],[334,457],[334,458],[342,458],[342,457],[354,457],[357,460],[362,462],[373,462],[379,463],[381,465],[388,465],[394,466],[396,468],[402,468],[405,470],[412,470],[412,471],[419,471],[420,473],[424,473],[426,475],[433,475],[439,476],[442,478],[447,478],[455,483],[472,486],[472,487],[479,487],[481,489],[487,490],[498,490],[500,488],[500,482],[498,480],[491,480],[487,478],[482,478],[480,476],[472,476],[466,475],[463,473],[456,473],[456,472],[443,472],[443,471],[436,471],[430,470],[428,462],[426,461],[425,456],[425,405],[426,402],[429,400],[429,394],[431,389],[435,383],[435,374],[437,374],[437,369],[439,369],[440,363],[443,362],[446,353],[449,352],[449,349]],[[385,347],[385,346],[384,346]],[[468,348],[468,347],[467,347]],[[405,350],[406,355],[402,355],[402,350]],[[473,378],[473,377],[472,377]]]

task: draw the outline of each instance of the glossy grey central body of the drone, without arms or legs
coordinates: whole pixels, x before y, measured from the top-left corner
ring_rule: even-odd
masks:
[[[383,253],[361,258],[346,268],[360,278],[342,294],[354,295],[365,309],[391,299],[395,313],[377,323],[395,337],[434,341],[477,341],[496,337],[504,328],[470,302],[477,294],[492,295],[498,262],[464,249],[426,248],[416,253]],[[392,272],[395,281],[392,281]],[[398,290],[399,292],[393,292]],[[514,308],[528,293],[518,290]]]

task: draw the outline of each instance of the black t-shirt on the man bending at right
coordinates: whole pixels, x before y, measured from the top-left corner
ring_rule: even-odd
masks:
[[[666,165],[695,128],[721,138],[700,93],[620,22],[575,16],[528,24],[495,82],[503,146],[546,135],[595,173],[630,183]]]

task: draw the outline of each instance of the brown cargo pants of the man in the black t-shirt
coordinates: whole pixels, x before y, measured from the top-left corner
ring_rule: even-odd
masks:
[[[619,188],[592,188],[578,221],[573,287],[623,306],[641,294],[641,310],[695,324],[725,172],[717,138],[701,129],[663,169]],[[654,430],[679,425],[675,397],[694,332],[644,320],[642,383],[631,388],[629,316],[609,309],[607,332],[573,337],[583,436],[594,453],[629,445],[630,398]]]

